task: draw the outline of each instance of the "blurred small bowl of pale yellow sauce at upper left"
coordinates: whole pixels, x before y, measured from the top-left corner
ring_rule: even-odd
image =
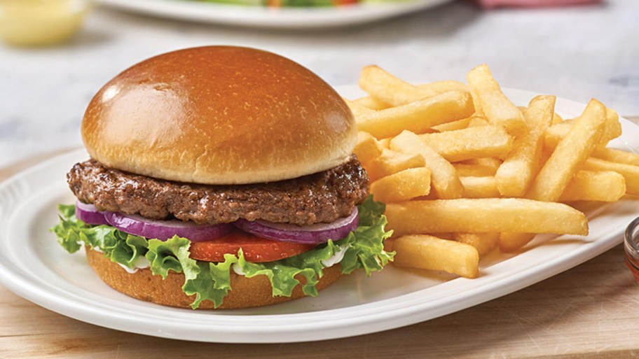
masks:
[[[50,45],[80,29],[92,0],[0,0],[0,38],[12,45]]]

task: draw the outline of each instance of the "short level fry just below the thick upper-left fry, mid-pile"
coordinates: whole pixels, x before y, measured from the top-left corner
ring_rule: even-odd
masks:
[[[422,134],[420,139],[450,162],[481,157],[505,157],[512,148],[512,136],[501,126],[482,126]]]

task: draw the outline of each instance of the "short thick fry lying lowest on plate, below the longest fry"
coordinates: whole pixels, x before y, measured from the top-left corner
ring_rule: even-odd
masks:
[[[399,237],[393,242],[398,267],[432,269],[466,278],[479,275],[479,253],[469,244],[427,235]]]

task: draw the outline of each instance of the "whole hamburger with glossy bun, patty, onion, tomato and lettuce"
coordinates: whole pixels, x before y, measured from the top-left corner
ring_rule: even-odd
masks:
[[[315,296],[383,269],[383,204],[352,150],[352,113],[303,66],[251,48],[169,52],[90,101],[90,158],[52,228],[112,288],[172,307]]]

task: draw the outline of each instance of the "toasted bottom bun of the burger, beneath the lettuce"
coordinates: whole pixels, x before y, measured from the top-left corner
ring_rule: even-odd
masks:
[[[151,269],[139,269],[135,273],[129,273],[98,251],[86,248],[86,255],[89,265],[100,279],[125,295],[147,302],[189,309],[195,300],[195,295],[188,296],[182,291],[184,274],[170,272],[166,279],[162,279],[161,276],[151,274]],[[324,269],[324,276],[316,285],[317,290],[326,288],[341,275],[340,265]],[[301,275],[296,276],[296,279],[301,283],[306,281]],[[233,289],[224,297],[224,303],[218,309],[261,307],[304,296],[301,285],[298,285],[290,297],[273,297],[273,287],[266,276],[247,278],[233,271],[231,271],[231,288]],[[200,303],[199,309],[214,309],[213,302],[205,300]]]

